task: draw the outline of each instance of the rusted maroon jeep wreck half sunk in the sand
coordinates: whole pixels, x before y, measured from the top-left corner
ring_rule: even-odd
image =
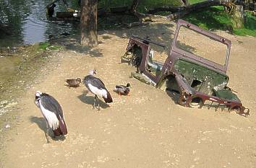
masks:
[[[221,54],[217,52],[218,46],[204,45],[199,39],[196,40],[197,43],[200,43],[199,45],[202,45],[202,49],[206,52],[200,53],[197,50],[191,52],[193,48],[184,44],[189,39],[179,37],[179,33],[183,29],[184,31],[192,31],[192,37],[199,34],[208,38],[210,42],[214,41],[218,45],[223,45],[223,63],[215,62],[210,57],[202,57],[201,54],[208,55],[207,50],[210,48],[216,52],[210,53],[211,56],[217,57]],[[187,33],[186,35],[191,34]],[[179,19],[165,61],[154,61],[154,51],[151,45],[165,48],[164,45],[147,38],[130,37],[127,52],[121,56],[121,62],[137,67],[137,72],[132,72],[132,76],[143,79],[155,87],[176,93],[177,103],[184,107],[201,108],[206,106],[208,108],[214,107],[215,110],[226,109],[229,112],[234,110],[243,116],[249,115],[249,109],[242,105],[236,94],[227,86],[229,76],[227,76],[226,71],[229,63],[231,40]],[[186,48],[189,49],[186,50]]]

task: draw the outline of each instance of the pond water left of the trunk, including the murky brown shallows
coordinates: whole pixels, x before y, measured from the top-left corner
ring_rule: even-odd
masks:
[[[47,41],[61,34],[75,34],[77,22],[53,22],[46,17],[46,5],[51,0],[0,0],[0,89],[4,82],[17,74],[24,56],[5,54],[3,50]],[[77,1],[67,1],[69,7],[78,9]],[[56,3],[55,13],[65,11],[63,1]],[[4,25],[4,26],[3,26]],[[8,53],[8,52],[7,52]]]

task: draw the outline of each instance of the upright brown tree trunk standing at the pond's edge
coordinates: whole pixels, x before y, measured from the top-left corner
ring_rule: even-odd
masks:
[[[95,47],[98,45],[97,0],[81,1],[81,45]]]

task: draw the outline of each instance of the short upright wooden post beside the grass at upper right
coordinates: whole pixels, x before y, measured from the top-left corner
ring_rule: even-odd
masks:
[[[236,5],[233,17],[231,17],[231,22],[233,23],[234,28],[244,27],[244,9],[242,5]]]

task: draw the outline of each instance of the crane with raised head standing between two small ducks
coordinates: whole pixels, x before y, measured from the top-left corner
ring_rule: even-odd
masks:
[[[102,97],[106,103],[113,102],[111,94],[106,89],[105,84],[103,84],[103,81],[93,76],[93,74],[96,74],[96,70],[90,70],[89,75],[85,76],[84,80],[82,81],[83,84],[85,84],[85,87],[87,87],[89,91],[95,95],[93,108],[95,108],[95,102],[98,100],[98,97]],[[98,110],[100,110],[99,102]]]

